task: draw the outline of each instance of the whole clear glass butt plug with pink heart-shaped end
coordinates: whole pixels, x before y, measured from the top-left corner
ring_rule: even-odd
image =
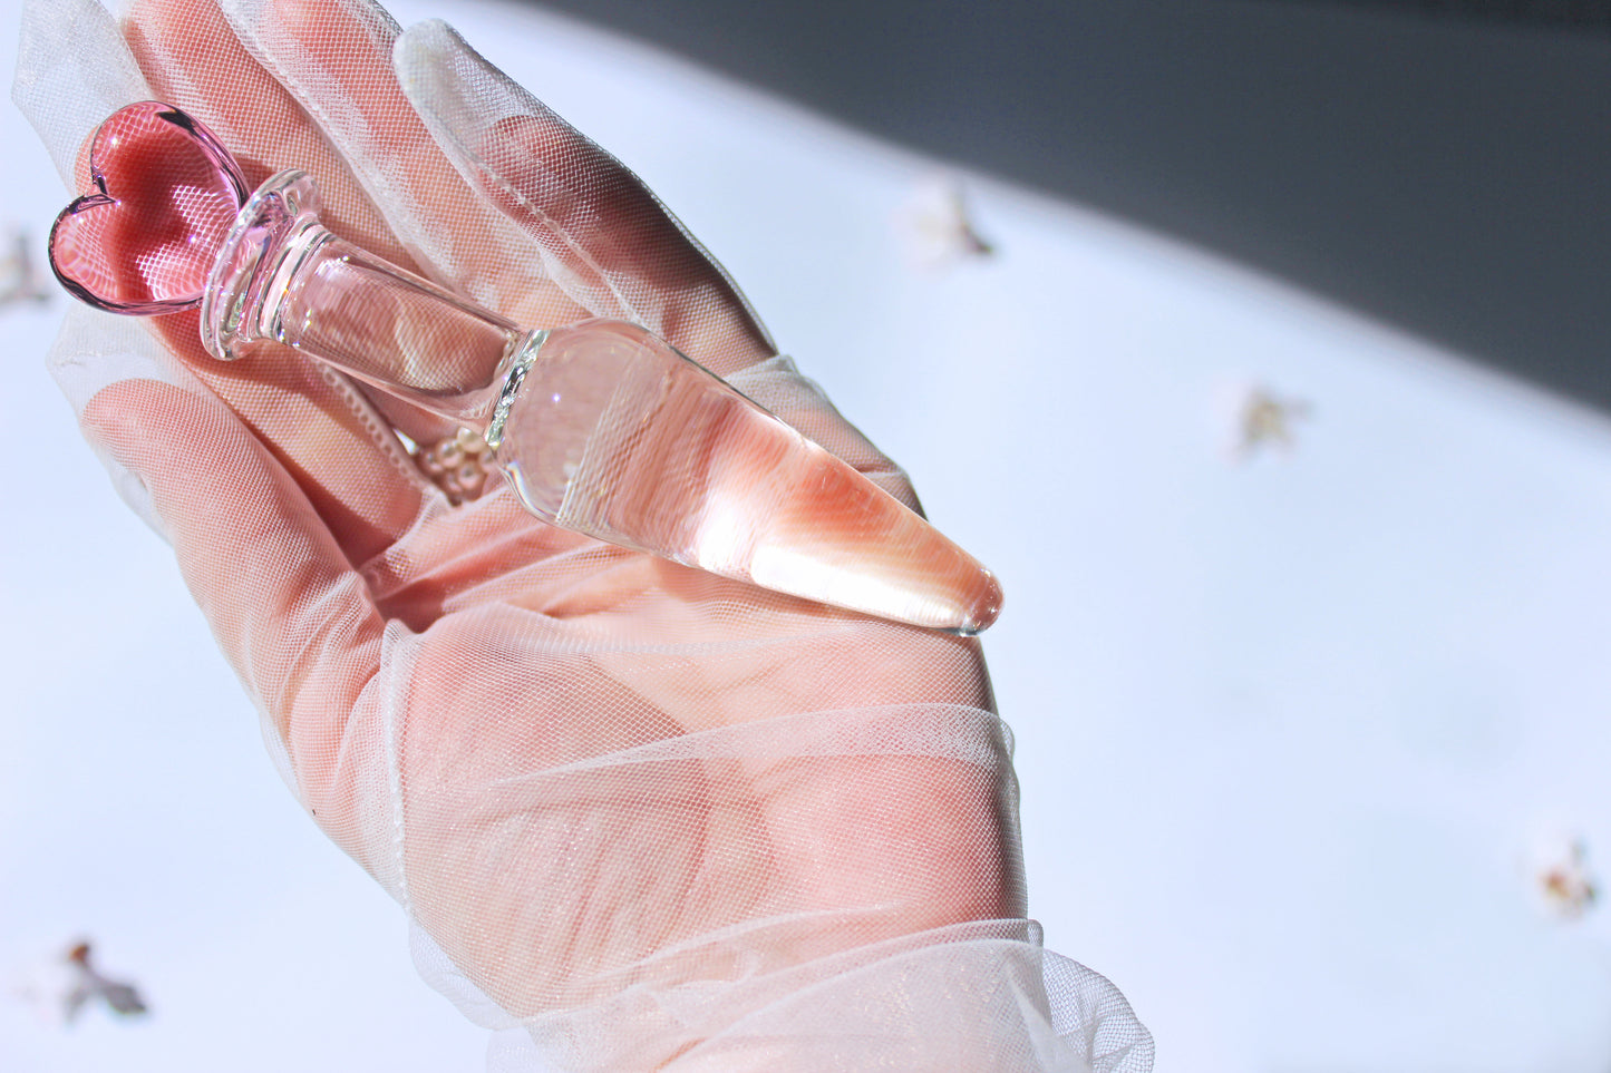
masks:
[[[246,195],[229,151],[168,105],[114,113],[90,172],[50,238],[90,304],[200,306],[214,358],[285,343],[467,427],[554,525],[897,622],[978,633],[1000,611],[976,559],[633,324],[528,330],[480,309],[329,232],[300,171]]]

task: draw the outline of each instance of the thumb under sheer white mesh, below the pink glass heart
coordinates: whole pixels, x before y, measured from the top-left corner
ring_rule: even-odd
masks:
[[[214,400],[119,380],[85,435],[151,496],[192,594],[301,786],[322,786],[383,620],[296,482]]]

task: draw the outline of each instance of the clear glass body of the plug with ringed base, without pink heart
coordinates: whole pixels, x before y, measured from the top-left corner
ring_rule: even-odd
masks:
[[[723,577],[976,633],[1000,586],[851,466],[620,321],[524,332],[333,237],[300,172],[242,209],[203,340],[272,338],[483,433],[528,511]]]

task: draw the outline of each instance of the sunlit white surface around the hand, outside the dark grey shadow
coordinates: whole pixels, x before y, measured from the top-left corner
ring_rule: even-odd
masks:
[[[1611,424],[983,177],[997,256],[920,267],[936,163],[524,8],[395,13],[635,168],[1002,575],[1031,912],[1160,1070],[1611,1063],[1611,931],[1529,865],[1551,833],[1611,864]],[[37,253],[66,195],[0,122]],[[480,1068],[79,443],[42,362],[64,303],[0,309],[0,1070]],[[1289,454],[1228,456],[1249,383],[1310,403]],[[148,1018],[14,994],[79,934]]]

